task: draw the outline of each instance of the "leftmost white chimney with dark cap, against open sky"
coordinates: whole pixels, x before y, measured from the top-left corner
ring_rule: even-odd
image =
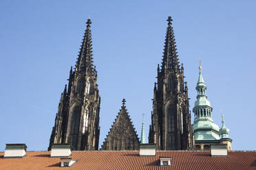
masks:
[[[25,156],[27,146],[25,143],[6,144],[3,158],[22,158]]]

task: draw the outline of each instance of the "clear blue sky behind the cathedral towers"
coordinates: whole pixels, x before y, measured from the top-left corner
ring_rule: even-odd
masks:
[[[256,1],[0,1],[0,151],[6,143],[47,149],[88,18],[102,99],[100,146],[123,98],[139,136],[145,114],[148,136],[167,16],[190,109],[201,59],[213,120],[221,126],[224,114],[233,149],[256,149],[255,8]]]

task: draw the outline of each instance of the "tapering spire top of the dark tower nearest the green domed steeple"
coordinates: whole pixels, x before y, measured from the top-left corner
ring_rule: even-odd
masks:
[[[171,70],[177,73],[180,70],[179,59],[177,55],[176,42],[173,33],[171,16],[168,17],[167,35],[164,42],[164,56],[162,57],[162,71]]]

